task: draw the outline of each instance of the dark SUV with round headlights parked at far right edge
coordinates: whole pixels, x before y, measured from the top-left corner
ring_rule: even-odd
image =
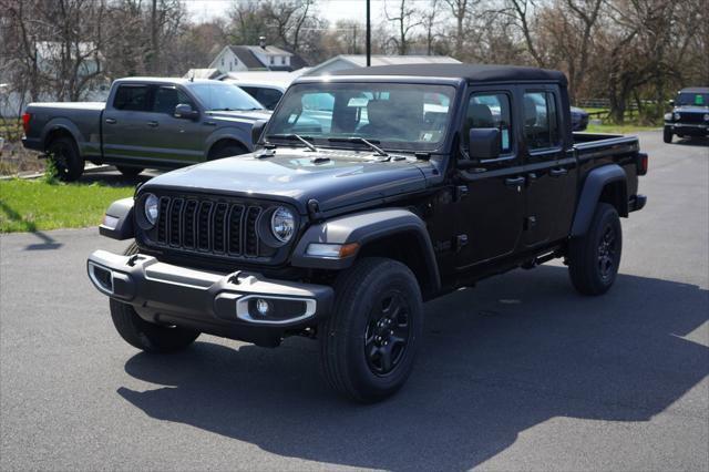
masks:
[[[679,137],[709,135],[709,86],[682,89],[669,104],[672,111],[665,114],[662,134],[666,143],[671,143],[675,134]]]

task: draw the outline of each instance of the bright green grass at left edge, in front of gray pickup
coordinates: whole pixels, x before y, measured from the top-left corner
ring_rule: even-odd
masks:
[[[111,202],[134,187],[101,184],[49,184],[0,181],[0,233],[97,226]]]

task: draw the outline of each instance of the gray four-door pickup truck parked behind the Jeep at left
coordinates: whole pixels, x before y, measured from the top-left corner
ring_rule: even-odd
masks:
[[[134,176],[253,151],[251,127],[269,117],[228,83],[131,78],[113,83],[106,103],[30,103],[22,143],[50,156],[63,181],[85,161]]]

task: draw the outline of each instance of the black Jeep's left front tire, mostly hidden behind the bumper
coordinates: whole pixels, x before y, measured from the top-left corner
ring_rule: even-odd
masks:
[[[125,249],[124,255],[137,253],[135,243]],[[141,318],[133,307],[110,299],[111,319],[119,335],[131,346],[147,352],[174,352],[185,349],[199,336],[199,331],[155,325]]]

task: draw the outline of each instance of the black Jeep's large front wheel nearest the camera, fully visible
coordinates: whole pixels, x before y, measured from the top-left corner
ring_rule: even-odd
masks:
[[[325,378],[350,400],[383,400],[413,369],[423,328],[417,278],[397,260],[364,258],[338,277],[335,294],[318,328]]]

